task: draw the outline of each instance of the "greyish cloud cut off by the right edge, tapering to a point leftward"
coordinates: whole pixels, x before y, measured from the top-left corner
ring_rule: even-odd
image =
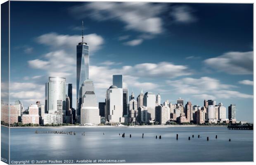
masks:
[[[234,75],[253,73],[253,51],[227,52],[221,56],[204,60],[206,66]]]

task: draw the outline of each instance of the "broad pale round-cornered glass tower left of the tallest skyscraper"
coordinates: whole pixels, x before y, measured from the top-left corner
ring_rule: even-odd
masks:
[[[49,77],[45,83],[45,94],[47,112],[66,115],[66,78]]]

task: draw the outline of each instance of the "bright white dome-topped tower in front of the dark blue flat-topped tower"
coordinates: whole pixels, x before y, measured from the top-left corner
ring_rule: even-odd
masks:
[[[123,123],[123,89],[111,85],[106,94],[106,115],[109,123]]]

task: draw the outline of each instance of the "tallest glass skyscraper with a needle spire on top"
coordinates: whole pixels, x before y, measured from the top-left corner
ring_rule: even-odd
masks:
[[[76,45],[76,113],[79,119],[82,97],[82,84],[89,79],[89,46],[83,42],[83,21],[82,21],[82,42]]]

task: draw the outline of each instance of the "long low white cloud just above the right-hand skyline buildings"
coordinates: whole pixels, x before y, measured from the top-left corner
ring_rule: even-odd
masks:
[[[166,80],[167,85],[174,87],[174,91],[180,94],[191,94],[199,99],[230,99],[252,98],[253,95],[244,94],[232,90],[234,85],[222,84],[219,80],[209,77],[182,78],[180,80]]]

